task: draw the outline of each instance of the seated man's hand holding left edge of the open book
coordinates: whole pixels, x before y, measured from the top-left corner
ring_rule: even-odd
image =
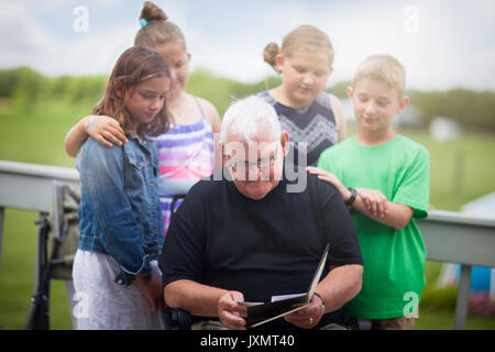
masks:
[[[230,290],[220,296],[217,304],[217,312],[222,326],[229,330],[245,330],[245,319],[241,315],[248,312],[246,307],[238,301],[243,301],[244,295],[239,292]]]

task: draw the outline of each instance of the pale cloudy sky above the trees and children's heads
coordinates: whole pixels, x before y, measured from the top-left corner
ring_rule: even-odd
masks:
[[[109,74],[133,44],[142,0],[0,0],[0,68],[48,76]],[[366,56],[404,63],[408,88],[495,90],[495,0],[168,0],[193,55],[218,76],[257,81],[268,42],[314,24],[336,50],[328,85],[351,79]],[[87,16],[86,16],[87,14]],[[85,21],[85,19],[87,21]]]

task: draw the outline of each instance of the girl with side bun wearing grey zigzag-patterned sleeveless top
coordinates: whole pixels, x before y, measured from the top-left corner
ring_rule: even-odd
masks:
[[[287,157],[300,167],[316,165],[320,153],[346,134],[341,102],[323,91],[333,70],[332,44],[316,26],[300,25],[284,37],[282,47],[267,44],[263,58],[282,76],[280,86],[258,95],[275,108],[294,142]],[[307,163],[298,157],[301,143],[307,143]]]

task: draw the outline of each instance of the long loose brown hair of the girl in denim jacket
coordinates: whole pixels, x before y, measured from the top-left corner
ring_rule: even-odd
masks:
[[[143,46],[128,48],[117,61],[108,80],[105,96],[92,108],[92,113],[113,117],[125,130],[131,122],[130,113],[125,108],[125,99],[130,88],[156,77],[170,78],[170,73],[163,57],[158,53]],[[119,95],[120,97],[116,94],[117,88],[121,89],[122,94]],[[141,125],[138,134],[160,135],[168,131],[170,122],[172,114],[165,100],[153,121]]]

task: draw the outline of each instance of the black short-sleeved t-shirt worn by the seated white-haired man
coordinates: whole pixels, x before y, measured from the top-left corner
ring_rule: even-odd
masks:
[[[164,285],[190,279],[239,290],[246,301],[270,301],[307,292],[327,243],[322,278],[329,266],[362,264],[351,217],[333,186],[307,174],[305,190],[288,193],[296,180],[283,177],[253,200],[231,180],[215,179],[197,183],[173,216],[161,257]],[[327,314],[319,326],[337,318]],[[284,319],[262,326],[294,327]]]

